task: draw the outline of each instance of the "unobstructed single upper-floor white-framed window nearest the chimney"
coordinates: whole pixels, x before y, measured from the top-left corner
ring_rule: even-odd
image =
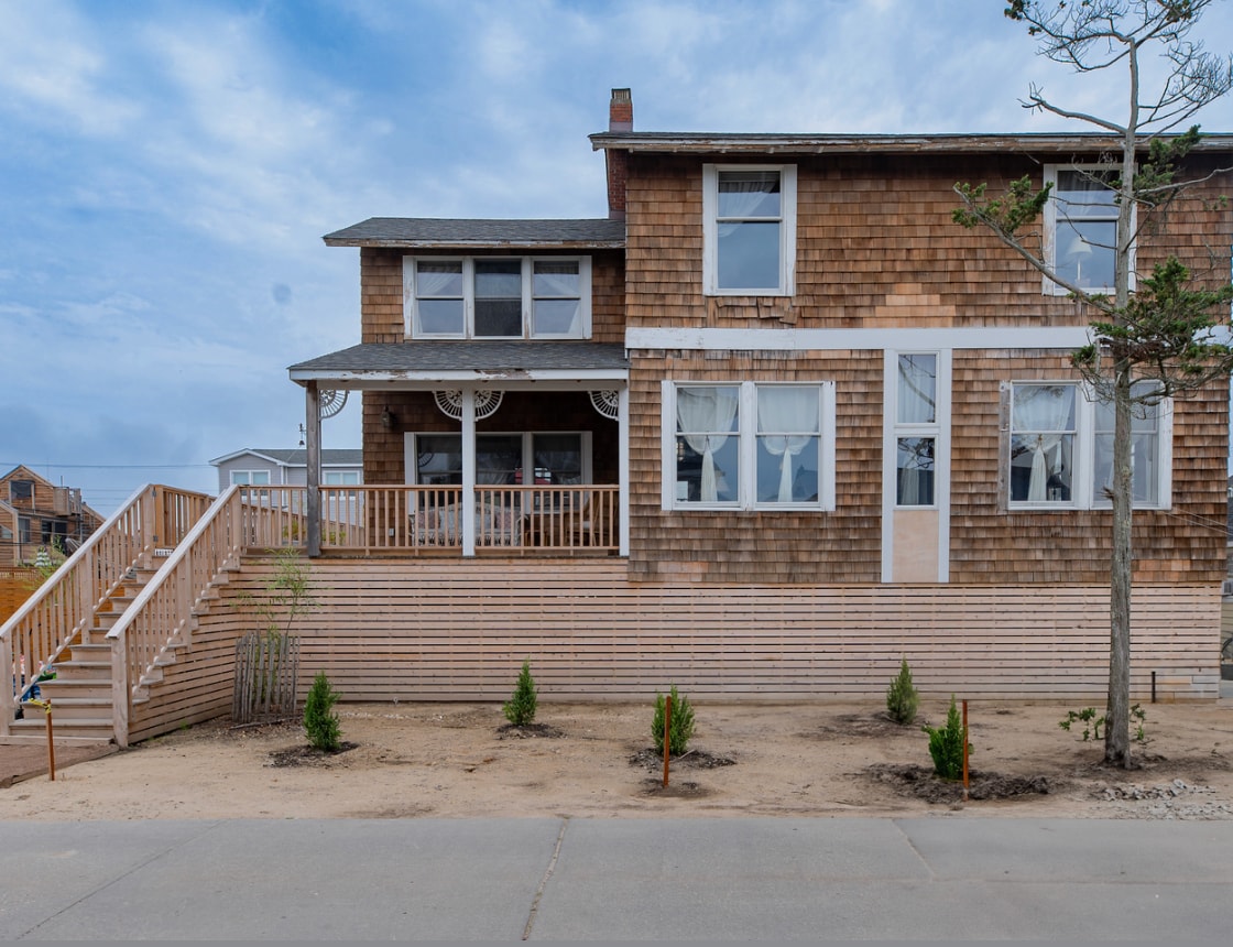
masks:
[[[797,166],[703,165],[703,287],[711,296],[790,296]]]

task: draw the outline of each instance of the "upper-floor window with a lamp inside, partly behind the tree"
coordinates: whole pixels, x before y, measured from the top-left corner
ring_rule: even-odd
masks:
[[[1044,166],[1044,181],[1053,185],[1052,199],[1044,207],[1046,260],[1059,276],[1090,292],[1113,292],[1117,248],[1115,180],[1116,171],[1095,165]],[[1044,291],[1053,295],[1069,292],[1048,279]]]

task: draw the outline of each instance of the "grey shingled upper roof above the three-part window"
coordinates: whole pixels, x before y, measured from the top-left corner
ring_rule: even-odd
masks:
[[[328,247],[620,249],[625,245],[625,222],[370,217],[322,239]]]

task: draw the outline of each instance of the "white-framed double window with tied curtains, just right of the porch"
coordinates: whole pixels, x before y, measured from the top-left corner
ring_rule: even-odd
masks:
[[[666,509],[834,509],[835,385],[663,383]]]

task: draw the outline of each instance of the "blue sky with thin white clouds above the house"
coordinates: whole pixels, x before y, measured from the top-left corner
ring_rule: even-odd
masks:
[[[296,361],[359,340],[374,216],[603,217],[609,90],[640,131],[1067,126],[1118,116],[1002,0],[0,0],[0,467],[110,513],[291,448]],[[1233,48],[1233,4],[1195,38]],[[1233,96],[1200,116],[1233,131]],[[324,422],[360,445],[359,398]]]

